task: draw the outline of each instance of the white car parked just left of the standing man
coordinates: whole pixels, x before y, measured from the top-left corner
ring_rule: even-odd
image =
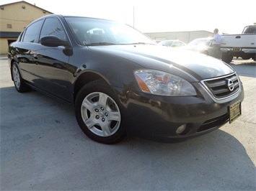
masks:
[[[211,45],[212,38],[198,38],[193,39],[187,45],[182,47],[183,50],[192,50],[195,52],[200,52],[205,55],[212,55],[213,46]]]

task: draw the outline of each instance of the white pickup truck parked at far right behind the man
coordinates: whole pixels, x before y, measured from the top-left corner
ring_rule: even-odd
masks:
[[[231,62],[233,57],[256,61],[256,25],[244,27],[242,34],[222,35],[220,48],[224,62]]]

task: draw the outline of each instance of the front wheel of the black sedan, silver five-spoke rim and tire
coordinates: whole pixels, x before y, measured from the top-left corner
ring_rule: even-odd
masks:
[[[120,104],[110,86],[102,81],[84,85],[76,96],[76,121],[90,139],[116,144],[125,137]]]

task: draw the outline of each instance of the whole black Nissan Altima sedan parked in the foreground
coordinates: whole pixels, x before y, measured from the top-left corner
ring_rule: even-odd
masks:
[[[127,133],[156,141],[200,136],[239,117],[244,99],[224,62],[161,47],[105,19],[37,19],[9,46],[9,66],[19,93],[35,88],[73,104],[84,134],[104,144]]]

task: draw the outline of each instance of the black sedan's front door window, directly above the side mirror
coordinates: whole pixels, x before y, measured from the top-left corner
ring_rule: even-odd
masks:
[[[45,36],[56,36],[62,40],[66,40],[66,33],[62,27],[61,22],[56,18],[45,19],[40,38]]]

